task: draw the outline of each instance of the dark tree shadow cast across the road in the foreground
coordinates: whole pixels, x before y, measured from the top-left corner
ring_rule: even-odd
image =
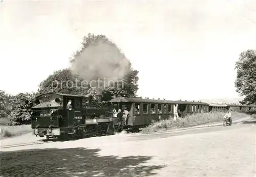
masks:
[[[48,148],[1,152],[0,176],[149,176],[147,156],[98,156],[100,149]]]

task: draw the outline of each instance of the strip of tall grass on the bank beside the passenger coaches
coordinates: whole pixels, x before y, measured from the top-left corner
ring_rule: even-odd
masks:
[[[237,120],[249,116],[248,114],[239,112],[232,112],[231,114],[232,120]],[[202,125],[206,123],[222,122],[224,115],[225,113],[222,112],[199,113],[188,115],[184,118],[177,118],[177,120],[170,118],[167,120],[153,121],[146,128],[141,129],[141,133],[153,133],[164,130],[195,127],[196,125]]]

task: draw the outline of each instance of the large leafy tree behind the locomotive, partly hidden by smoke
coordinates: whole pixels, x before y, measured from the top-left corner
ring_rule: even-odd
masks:
[[[79,57],[89,46],[97,45],[99,42],[107,42],[110,45],[116,47],[120,55],[123,55],[118,49],[117,45],[111,42],[104,35],[94,35],[88,34],[83,37],[82,46],[77,50],[72,59],[71,65],[74,64],[77,57]],[[123,55],[124,56],[124,55]],[[99,63],[101,64],[101,63]],[[87,66],[90,67],[90,66]],[[99,90],[90,88],[89,85],[84,85],[84,83],[77,82],[77,86],[71,87],[71,82],[76,83],[76,81],[82,81],[79,75],[73,74],[70,68],[55,71],[52,75],[42,81],[39,86],[38,94],[46,92],[56,92],[56,93],[67,93],[67,94],[91,94],[94,99],[109,100],[117,96],[134,97],[138,90],[138,71],[131,67],[131,62],[129,61],[129,72],[124,76],[122,83],[118,81],[110,87],[106,87],[101,92]],[[86,68],[84,68],[86,69]],[[60,84],[63,82],[62,85]],[[67,81],[70,81],[67,83]]]

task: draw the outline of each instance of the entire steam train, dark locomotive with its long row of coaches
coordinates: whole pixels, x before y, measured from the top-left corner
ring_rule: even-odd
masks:
[[[117,97],[102,106],[90,95],[49,92],[35,98],[30,117],[33,135],[66,139],[113,135],[123,130],[139,132],[153,120],[226,110],[246,112],[256,110],[256,106],[148,97]]]

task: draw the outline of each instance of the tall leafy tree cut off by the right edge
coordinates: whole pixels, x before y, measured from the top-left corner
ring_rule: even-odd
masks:
[[[236,62],[236,91],[245,96],[241,104],[256,104],[256,50],[246,50]]]

